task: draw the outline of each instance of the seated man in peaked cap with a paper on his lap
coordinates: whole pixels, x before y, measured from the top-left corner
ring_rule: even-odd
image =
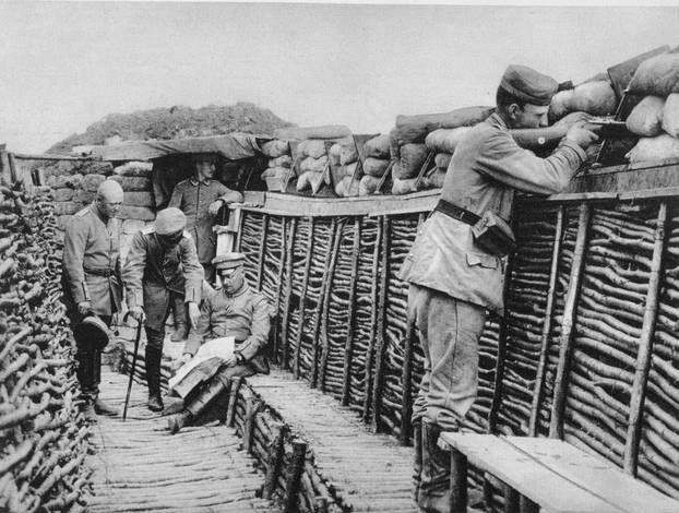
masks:
[[[217,274],[217,288],[204,298],[198,327],[189,335],[182,362],[193,358],[204,342],[226,336],[236,339],[235,358],[184,403],[181,413],[168,419],[172,434],[225,392],[231,378],[269,373],[262,349],[269,338],[270,307],[264,296],[246,283],[245,258],[241,253],[227,253],[212,261]]]

